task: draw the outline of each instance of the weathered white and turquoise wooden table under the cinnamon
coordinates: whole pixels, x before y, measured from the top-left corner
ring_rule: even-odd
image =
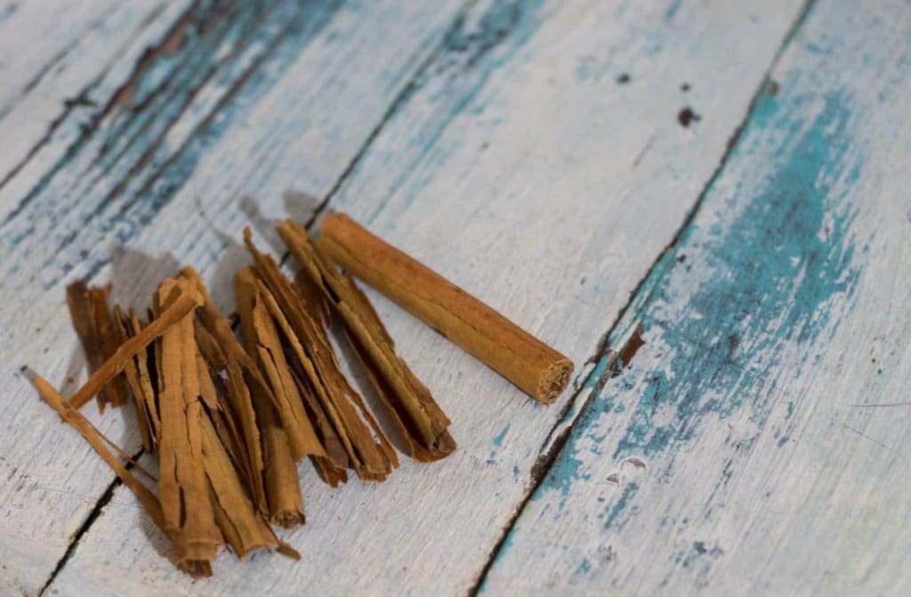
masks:
[[[911,591],[907,2],[4,0],[0,83],[0,594]],[[371,293],[458,452],[302,465],[303,560],[191,582],[20,367],[84,378],[67,283],[189,263],[230,310],[244,226],[333,210],[573,386]]]

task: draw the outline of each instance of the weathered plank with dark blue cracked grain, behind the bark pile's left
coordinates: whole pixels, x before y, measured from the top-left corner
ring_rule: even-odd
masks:
[[[0,227],[0,592],[36,592],[113,479],[18,372],[81,370],[64,285],[113,280],[118,300],[148,304],[179,261],[230,296],[242,250],[228,239],[281,213],[282,195],[310,215],[302,190],[333,188],[460,5],[200,3],[183,44],[99,101],[110,108],[77,139],[48,142],[59,160],[0,190],[16,206]],[[138,448],[130,413],[102,428]],[[108,508],[122,504],[135,510],[119,495]]]

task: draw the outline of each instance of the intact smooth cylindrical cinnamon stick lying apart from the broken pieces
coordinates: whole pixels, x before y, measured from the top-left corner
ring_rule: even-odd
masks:
[[[522,391],[552,404],[572,362],[425,265],[346,215],[329,216],[319,246],[348,272],[493,368]]]

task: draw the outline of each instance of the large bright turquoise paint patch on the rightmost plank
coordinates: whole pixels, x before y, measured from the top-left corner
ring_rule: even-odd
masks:
[[[803,101],[760,98],[731,161],[752,156],[770,132],[783,134],[788,150],[774,158],[773,171],[759,188],[738,189],[733,197],[710,190],[703,210],[721,209],[711,207],[721,203],[736,216],[707,229],[695,221],[657,268],[660,281],[640,306],[640,316],[660,324],[673,357],[641,382],[640,402],[615,456],[665,451],[693,437],[709,414],[729,417],[748,405],[766,417],[768,403],[778,395],[765,392],[761,402],[756,395],[764,386],[763,370],[780,348],[814,345],[823,332],[834,333],[837,322],[829,321],[825,305],[850,300],[859,275],[850,233],[855,211],[837,194],[836,181],[850,187],[862,164],[837,136],[849,124],[849,98],[829,94],[810,123],[791,117]],[[688,293],[688,305],[680,310],[699,318],[661,321],[652,305],[672,301],[676,283],[687,273],[685,263],[676,262],[677,253],[702,259],[715,275]],[[666,425],[654,422],[661,405],[672,409]]]

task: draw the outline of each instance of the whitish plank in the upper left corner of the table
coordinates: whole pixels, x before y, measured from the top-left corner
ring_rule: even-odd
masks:
[[[0,8],[0,188],[35,184],[91,126],[147,49],[180,41],[169,34],[179,33],[188,5],[67,0]],[[2,195],[0,220],[15,208],[14,195]]]

